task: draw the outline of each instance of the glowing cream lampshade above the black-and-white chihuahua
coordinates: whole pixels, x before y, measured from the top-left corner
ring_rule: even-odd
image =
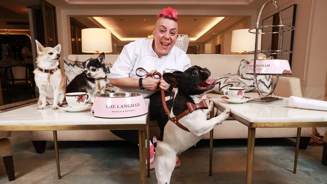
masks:
[[[81,30],[82,52],[112,52],[111,32],[109,29],[87,28]]]

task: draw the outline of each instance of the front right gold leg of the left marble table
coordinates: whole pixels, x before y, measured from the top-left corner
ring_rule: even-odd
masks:
[[[146,183],[145,178],[145,130],[138,130],[138,149],[140,157],[140,181]]]

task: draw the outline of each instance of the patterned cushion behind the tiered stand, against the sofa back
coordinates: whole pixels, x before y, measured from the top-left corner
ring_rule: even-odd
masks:
[[[253,85],[255,87],[254,90],[257,90],[255,81],[254,81],[254,75],[253,74],[247,74],[247,69],[249,66],[250,62],[243,59],[241,60],[240,64],[239,64],[239,68],[238,68],[238,75],[240,75],[240,77],[242,79],[246,79],[246,80],[252,80],[253,81]],[[259,85],[259,89],[261,93],[265,93],[268,94],[270,92],[270,90],[272,89],[272,75],[258,75],[257,76],[257,80],[258,80],[258,85]]]

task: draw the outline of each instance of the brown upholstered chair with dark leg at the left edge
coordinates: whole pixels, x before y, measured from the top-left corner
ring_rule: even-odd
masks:
[[[15,180],[13,146],[9,139],[11,134],[9,131],[0,131],[0,156],[4,160],[9,181]]]

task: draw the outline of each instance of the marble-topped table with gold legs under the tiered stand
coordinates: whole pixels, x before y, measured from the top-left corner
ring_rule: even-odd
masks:
[[[327,127],[327,113],[306,109],[296,109],[288,106],[288,98],[283,98],[269,105],[243,103],[229,104],[221,99],[210,99],[214,107],[220,111],[230,108],[231,117],[248,127],[248,154],[247,154],[247,183],[252,182],[253,159],[255,148],[256,128],[297,128],[294,170],[296,173],[302,127]],[[213,113],[211,114],[213,117]],[[213,130],[210,132],[210,168],[212,168],[212,140]]]

